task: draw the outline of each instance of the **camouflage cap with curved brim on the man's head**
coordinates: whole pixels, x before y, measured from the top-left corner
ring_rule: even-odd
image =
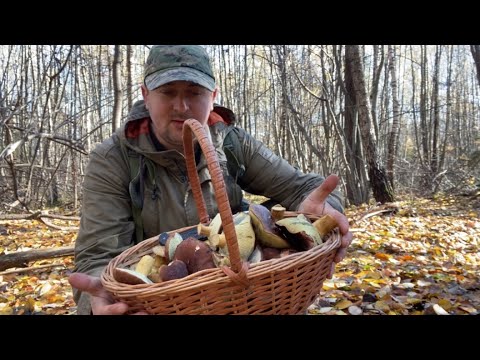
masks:
[[[215,90],[210,59],[199,45],[155,45],[150,49],[144,71],[148,90],[172,81],[191,81]]]

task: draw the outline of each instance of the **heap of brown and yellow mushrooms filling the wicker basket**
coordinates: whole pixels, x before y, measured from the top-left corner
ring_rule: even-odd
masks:
[[[262,205],[251,204],[248,213],[240,212],[233,216],[242,260],[257,263],[309,250],[322,244],[338,226],[330,215],[312,223],[303,214],[284,217],[284,212],[285,208],[281,205],[268,210]],[[144,255],[130,268],[115,269],[115,279],[131,285],[151,284],[230,265],[220,214],[208,226],[199,224],[197,232],[206,240],[194,237],[184,240],[180,234],[172,233],[164,246],[152,248],[151,255]]]

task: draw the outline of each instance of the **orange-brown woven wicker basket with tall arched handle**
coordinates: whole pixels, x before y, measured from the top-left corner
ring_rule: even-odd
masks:
[[[200,188],[193,151],[193,134],[208,162],[215,197],[226,237],[231,267],[206,269],[187,277],[163,283],[128,285],[114,279],[114,269],[128,267],[151,254],[157,238],[147,239],[112,259],[102,273],[104,287],[117,300],[127,303],[131,312],[150,314],[302,314],[318,296],[328,275],[340,235],[310,250],[282,258],[248,265],[242,262],[225,191],[223,175],[215,149],[203,126],[196,120],[185,121],[183,141],[188,177],[195,204],[204,224],[208,212]],[[288,212],[286,216],[296,216]],[[318,217],[308,215],[311,220]],[[184,229],[176,230],[180,232]]]

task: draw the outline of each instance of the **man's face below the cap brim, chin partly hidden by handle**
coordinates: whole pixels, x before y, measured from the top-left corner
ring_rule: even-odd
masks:
[[[142,86],[157,139],[167,149],[183,152],[182,127],[188,119],[206,124],[217,91],[189,81],[174,81],[154,90]]]

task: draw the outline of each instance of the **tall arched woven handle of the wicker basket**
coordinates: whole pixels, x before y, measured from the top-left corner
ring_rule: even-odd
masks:
[[[207,160],[210,176],[212,177],[213,190],[215,192],[220,218],[222,219],[230,264],[232,270],[239,274],[242,270],[245,271],[245,269],[242,269],[243,265],[240,258],[240,250],[238,248],[237,234],[233,224],[232,210],[225,190],[222,170],[218,163],[217,152],[211,144],[203,125],[195,119],[188,119],[183,123],[183,148],[185,151],[188,178],[190,180],[190,186],[192,187],[193,198],[195,200],[195,205],[197,206],[200,222],[206,224],[210,221],[210,218],[208,216],[205,199],[200,185],[200,178],[198,177],[197,166],[195,164],[193,134],[195,134],[195,137],[200,144],[202,152]]]

